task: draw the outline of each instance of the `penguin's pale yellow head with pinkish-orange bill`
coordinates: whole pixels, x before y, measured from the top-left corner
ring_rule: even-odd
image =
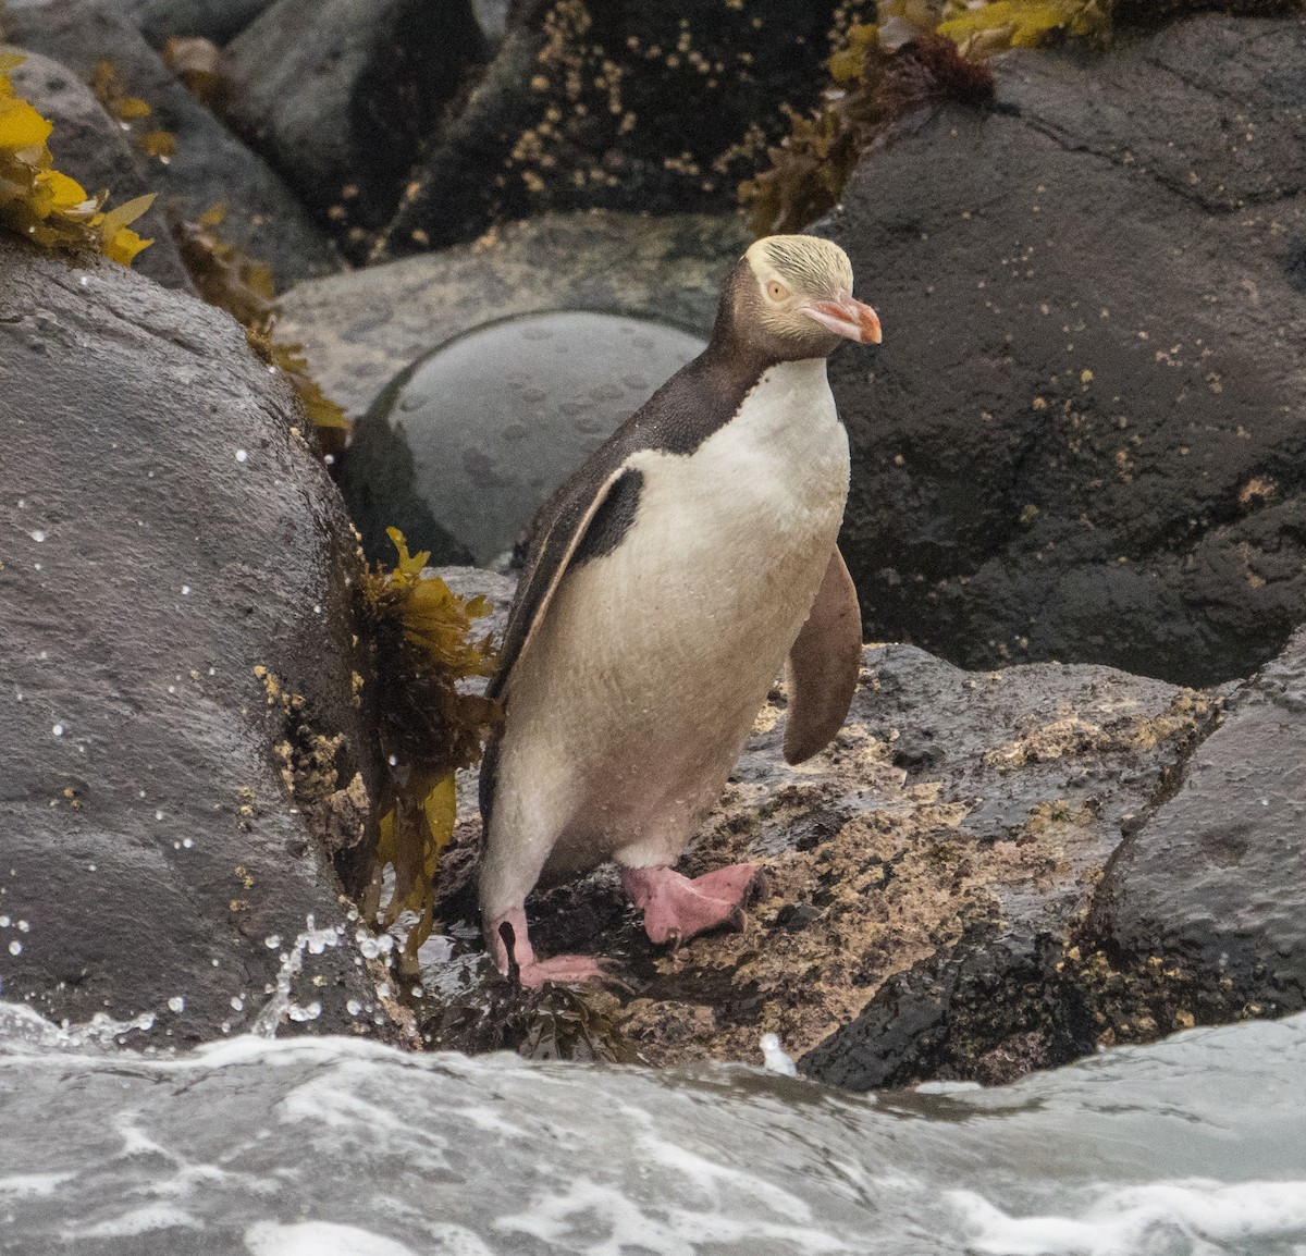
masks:
[[[880,342],[880,320],[853,299],[853,265],[812,235],[768,235],[739,259],[722,313],[729,334],[773,362],[824,358],[840,339]]]

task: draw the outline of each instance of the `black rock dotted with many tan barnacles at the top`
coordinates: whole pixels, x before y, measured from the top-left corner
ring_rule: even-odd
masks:
[[[401,256],[543,210],[729,212],[815,102],[863,0],[530,0],[438,131],[381,242]]]

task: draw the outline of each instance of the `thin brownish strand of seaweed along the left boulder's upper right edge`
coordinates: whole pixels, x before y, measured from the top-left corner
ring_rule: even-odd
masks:
[[[317,431],[323,452],[340,453],[349,436],[350,420],[308,373],[302,346],[276,339],[281,307],[272,270],[218,235],[225,218],[226,209],[214,205],[199,222],[175,226],[172,234],[182,261],[200,295],[210,306],[226,309],[246,329],[249,347],[269,367],[285,373]]]

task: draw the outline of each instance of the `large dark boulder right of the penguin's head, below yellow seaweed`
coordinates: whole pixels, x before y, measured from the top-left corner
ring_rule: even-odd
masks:
[[[1306,620],[1303,57],[1218,16],[1017,52],[863,159],[818,230],[884,320],[832,363],[868,631],[1207,684]]]

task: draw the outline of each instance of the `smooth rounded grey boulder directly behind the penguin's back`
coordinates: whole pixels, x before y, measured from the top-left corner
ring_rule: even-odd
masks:
[[[370,557],[448,552],[486,565],[511,551],[549,495],[705,341],[646,319],[524,315],[417,362],[358,426],[340,479]],[[432,525],[435,525],[432,527]]]

